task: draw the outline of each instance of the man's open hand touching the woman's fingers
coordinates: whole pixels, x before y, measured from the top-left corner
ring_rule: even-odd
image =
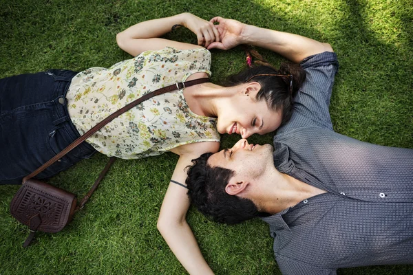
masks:
[[[209,22],[219,23],[219,25],[213,25],[220,33],[220,40],[217,40],[207,47],[208,50],[220,49],[229,50],[237,45],[242,44],[242,33],[245,28],[245,24],[233,19],[224,19],[222,17],[214,17]]]

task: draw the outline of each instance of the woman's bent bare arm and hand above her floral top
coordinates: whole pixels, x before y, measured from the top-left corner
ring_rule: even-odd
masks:
[[[197,35],[198,45],[207,47],[213,41],[219,41],[218,30],[213,23],[200,19],[190,13],[182,13],[173,17],[165,17],[144,21],[133,25],[116,35],[119,47],[132,56],[137,56],[147,50],[161,50],[166,46],[188,50],[198,47],[189,43],[181,43],[158,37],[170,32],[174,25],[183,25]]]

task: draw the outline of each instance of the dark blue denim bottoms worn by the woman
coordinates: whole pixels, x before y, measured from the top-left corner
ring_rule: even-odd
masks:
[[[80,136],[65,100],[76,74],[52,69],[0,79],[0,184],[21,184]],[[52,177],[95,152],[83,142],[35,178]]]

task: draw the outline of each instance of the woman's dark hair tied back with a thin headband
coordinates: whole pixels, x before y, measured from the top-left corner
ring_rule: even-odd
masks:
[[[306,72],[298,64],[293,63],[281,63],[279,69],[275,69],[251,47],[245,47],[244,50],[247,64],[250,67],[229,76],[222,85],[231,87],[246,82],[260,83],[261,89],[258,91],[256,100],[266,100],[268,107],[273,111],[281,110],[282,124],[285,124],[291,118],[293,98],[306,80]],[[252,63],[251,59],[255,59],[255,61]],[[256,76],[258,74],[282,74],[285,76]],[[292,89],[290,89],[290,85],[292,85]]]

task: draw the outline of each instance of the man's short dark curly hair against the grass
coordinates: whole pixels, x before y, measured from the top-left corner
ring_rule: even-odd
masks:
[[[219,166],[211,167],[207,161],[212,153],[193,159],[188,167],[188,196],[202,214],[218,223],[235,224],[257,217],[259,212],[253,201],[225,192],[235,172]]]

